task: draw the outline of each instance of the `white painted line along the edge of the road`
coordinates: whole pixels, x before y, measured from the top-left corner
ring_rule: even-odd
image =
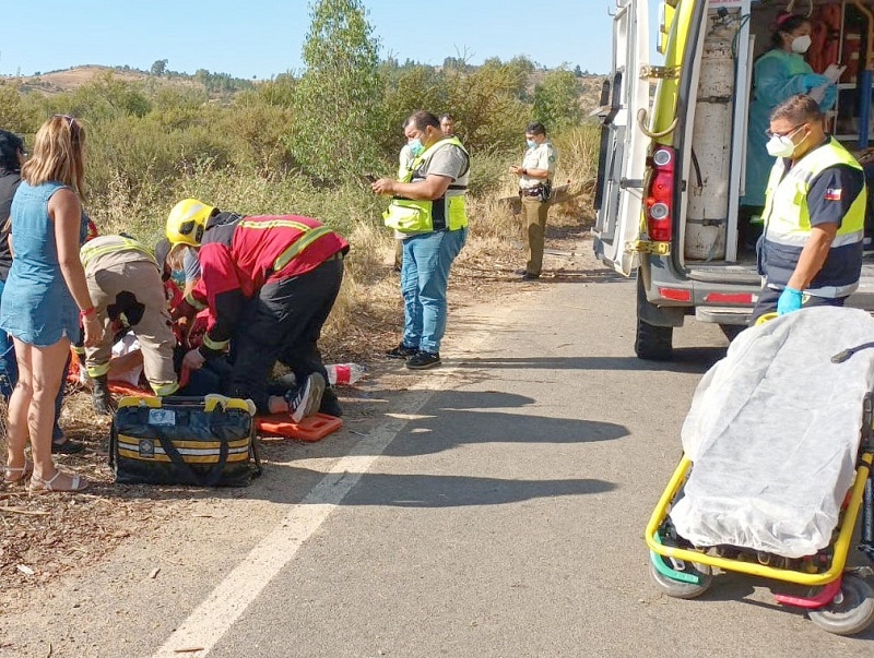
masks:
[[[415,414],[436,391],[445,390],[454,369],[446,369],[439,380],[428,382],[430,390],[410,393],[406,414]],[[276,574],[291,562],[303,543],[331,515],[361,477],[385,452],[409,422],[392,418],[362,439],[349,455],[339,459],[307,497],[292,506],[279,526],[261,540],[227,577],[212,591],[152,658],[179,658],[179,649],[189,658],[202,658],[234,625]]]

